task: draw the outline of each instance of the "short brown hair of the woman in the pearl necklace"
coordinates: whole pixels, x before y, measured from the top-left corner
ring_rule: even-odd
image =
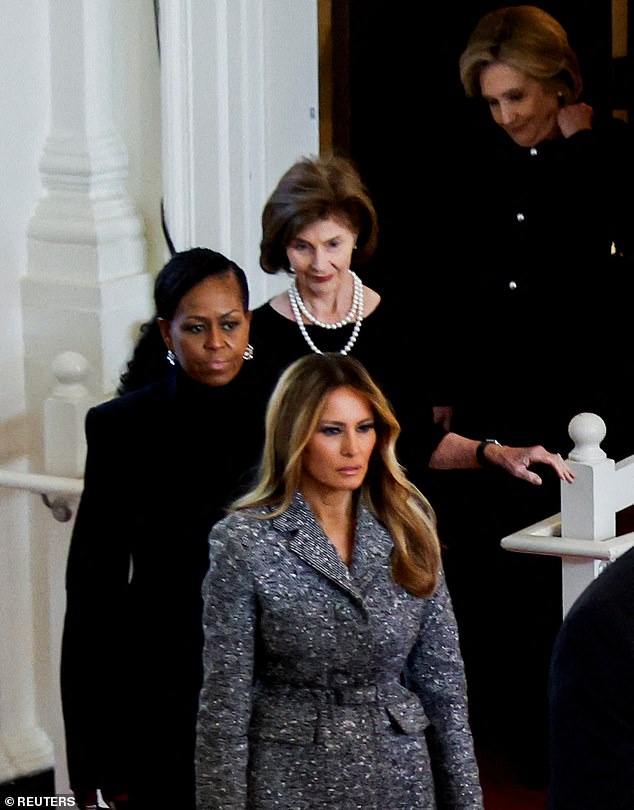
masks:
[[[328,217],[343,220],[356,232],[356,264],[371,258],[377,215],[354,165],[334,155],[301,158],[282,176],[262,211],[262,269],[288,271],[288,245],[303,228]]]

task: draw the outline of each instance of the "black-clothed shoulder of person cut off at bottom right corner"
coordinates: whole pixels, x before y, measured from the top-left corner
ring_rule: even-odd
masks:
[[[634,549],[576,600],[549,681],[550,810],[634,807]]]

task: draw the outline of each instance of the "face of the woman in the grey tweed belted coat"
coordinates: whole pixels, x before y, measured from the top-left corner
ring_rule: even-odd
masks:
[[[370,403],[352,388],[336,388],[326,397],[302,456],[300,489],[306,499],[358,489],[375,445]]]

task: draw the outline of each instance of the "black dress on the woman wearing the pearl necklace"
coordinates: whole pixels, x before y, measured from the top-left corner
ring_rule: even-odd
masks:
[[[421,345],[417,318],[411,302],[395,309],[382,299],[363,320],[350,355],[365,366],[390,401],[402,429],[397,445],[399,459],[410,479],[424,487],[429,458],[445,431],[433,421],[424,371],[427,347]],[[339,352],[353,327],[324,329],[308,324],[306,329],[320,351]],[[312,351],[297,324],[276,312],[270,303],[254,310],[250,335],[256,362],[267,364],[276,374]]]

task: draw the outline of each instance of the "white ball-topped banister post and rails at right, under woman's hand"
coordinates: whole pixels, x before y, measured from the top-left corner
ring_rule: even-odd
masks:
[[[616,513],[634,504],[634,455],[618,464],[607,458],[606,425],[597,414],[577,414],[568,432],[576,477],[561,484],[561,513],[501,541],[509,551],[561,557],[564,615],[605,565],[634,546],[634,532],[615,536]]]

